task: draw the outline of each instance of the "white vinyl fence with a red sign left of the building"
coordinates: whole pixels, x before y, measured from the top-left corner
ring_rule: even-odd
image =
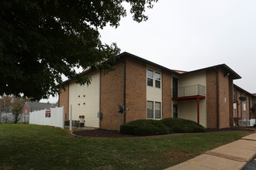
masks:
[[[29,113],[29,124],[64,128],[64,107],[38,110]]]

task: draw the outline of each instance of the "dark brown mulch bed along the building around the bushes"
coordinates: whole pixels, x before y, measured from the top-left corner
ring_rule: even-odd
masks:
[[[250,131],[253,133],[256,131],[256,128],[223,128],[223,129],[206,129],[205,133],[213,133],[218,131]],[[73,131],[73,134],[79,137],[89,137],[89,138],[137,138],[135,135],[128,134],[119,134],[118,131],[111,131],[105,129],[95,129],[95,130],[82,130],[82,131]]]

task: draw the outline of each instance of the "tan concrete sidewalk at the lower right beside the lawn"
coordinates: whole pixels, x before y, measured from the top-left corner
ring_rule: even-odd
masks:
[[[173,169],[242,169],[256,155],[256,133],[238,141],[206,151],[189,161],[166,168]],[[255,168],[256,169],[256,168]]]

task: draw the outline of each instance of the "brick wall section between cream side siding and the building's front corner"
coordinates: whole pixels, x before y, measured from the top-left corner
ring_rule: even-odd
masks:
[[[116,63],[116,70],[101,73],[101,112],[103,129],[118,129],[118,107],[123,106],[123,63]],[[123,114],[120,114],[123,122]]]

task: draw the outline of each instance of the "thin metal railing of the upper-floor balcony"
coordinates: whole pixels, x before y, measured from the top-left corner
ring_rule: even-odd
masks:
[[[196,84],[187,87],[178,87],[173,89],[173,97],[190,97],[195,95],[206,95],[206,87]]]

